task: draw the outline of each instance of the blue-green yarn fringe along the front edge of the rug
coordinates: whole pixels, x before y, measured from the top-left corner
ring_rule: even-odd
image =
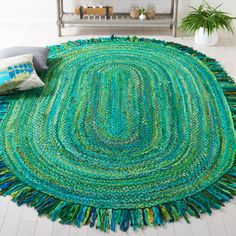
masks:
[[[189,223],[190,216],[200,218],[202,213],[211,215],[212,209],[219,209],[236,195],[235,164],[216,183],[195,195],[141,209],[103,209],[62,201],[20,182],[2,160],[0,166],[1,195],[10,195],[19,206],[26,204],[34,207],[39,215],[46,215],[52,221],[60,219],[62,224],[78,227],[89,224],[104,232],[108,229],[116,231],[116,225],[121,231],[127,231],[129,226],[134,230],[144,226],[160,226],[182,217]]]

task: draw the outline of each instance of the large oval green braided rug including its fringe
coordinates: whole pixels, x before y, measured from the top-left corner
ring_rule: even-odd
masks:
[[[233,198],[236,86],[218,62],[136,37],[49,48],[46,86],[0,97],[3,196],[103,231]]]

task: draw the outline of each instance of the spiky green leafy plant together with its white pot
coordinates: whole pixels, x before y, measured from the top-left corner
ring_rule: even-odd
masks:
[[[221,4],[222,5],[222,4]],[[187,33],[195,32],[195,41],[199,45],[212,46],[218,41],[218,30],[226,29],[233,33],[233,19],[228,13],[203,1],[198,8],[182,19],[180,28]]]

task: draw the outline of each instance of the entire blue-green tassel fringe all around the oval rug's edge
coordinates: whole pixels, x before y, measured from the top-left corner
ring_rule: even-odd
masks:
[[[69,41],[49,48],[51,53],[63,54],[65,49],[74,50],[83,44],[111,40],[162,43],[197,57],[216,76],[231,110],[234,127],[236,127],[236,85],[233,79],[227,75],[215,59],[209,58],[192,48],[173,42],[137,37],[115,37],[114,35],[110,38]],[[6,112],[9,102],[10,96],[0,97],[0,120]],[[104,232],[108,229],[115,231],[117,225],[121,231],[127,231],[129,226],[136,230],[147,225],[161,226],[168,222],[177,221],[181,217],[189,222],[189,216],[199,218],[202,213],[210,215],[212,209],[219,209],[224,206],[224,202],[236,195],[236,159],[227,174],[201,192],[175,202],[143,209],[101,209],[62,201],[20,182],[10,173],[2,159],[0,159],[0,189],[1,195],[11,195],[12,200],[18,205],[26,204],[34,207],[39,215],[46,215],[53,221],[60,219],[62,224],[75,224],[78,227],[89,224],[91,227],[96,227]]]

